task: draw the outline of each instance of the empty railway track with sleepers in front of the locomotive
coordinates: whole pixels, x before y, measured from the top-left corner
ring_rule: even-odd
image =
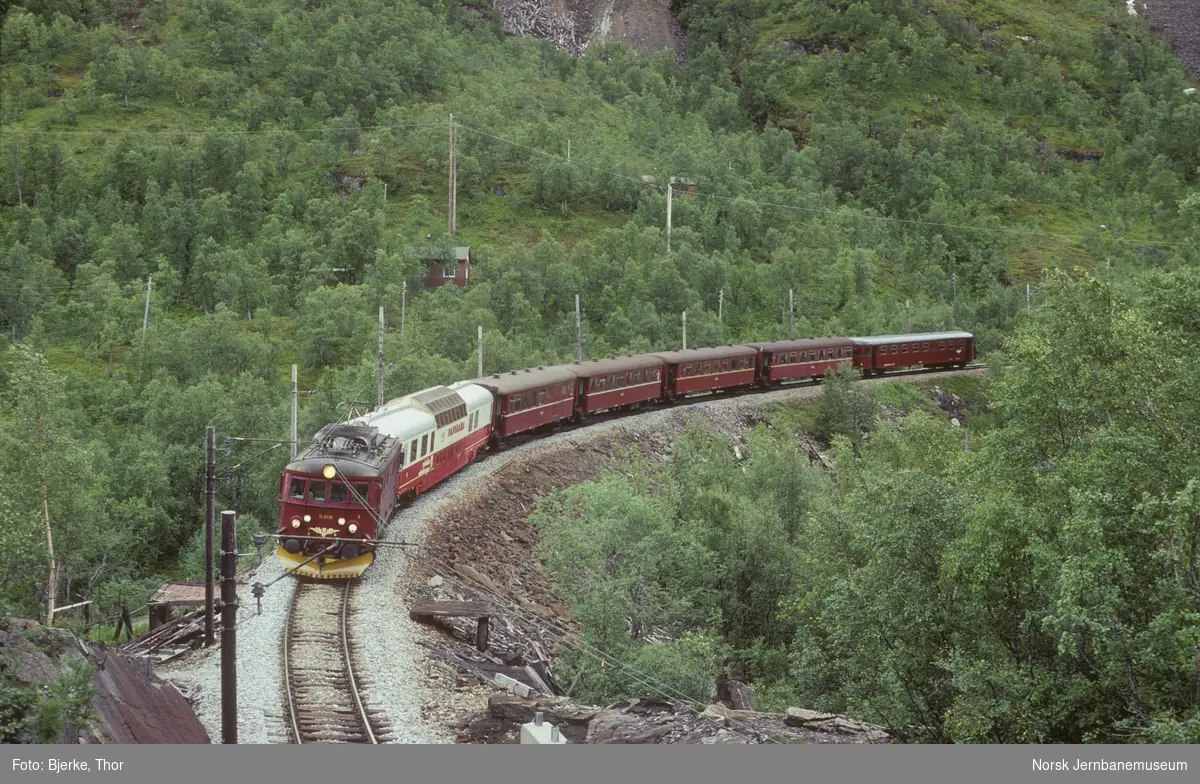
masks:
[[[390,737],[359,693],[347,626],[353,585],[296,582],[283,640],[283,689],[294,743],[379,743]]]

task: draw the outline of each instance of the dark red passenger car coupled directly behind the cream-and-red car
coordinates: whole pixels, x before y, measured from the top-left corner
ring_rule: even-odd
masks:
[[[494,373],[472,382],[496,397],[492,439],[505,439],[529,430],[569,420],[575,413],[578,379],[566,365]]]

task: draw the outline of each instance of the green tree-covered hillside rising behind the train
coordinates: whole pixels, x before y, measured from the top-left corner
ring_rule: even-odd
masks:
[[[1136,303],[1200,262],[1200,98],[1116,0],[697,0],[682,66],[457,0],[5,8],[0,610],[44,606],[30,450],[62,593],[194,577],[204,427],[271,442],[220,490],[269,527],[289,366],[301,437],[373,401],[380,306],[391,396],[472,377],[476,325],[488,372],[574,357],[576,295],[587,357],[676,347],[680,311],[689,345],[781,337],[788,292],[800,335],[911,303],[990,353],[1052,268]],[[422,244],[469,244],[472,286],[421,292]]]

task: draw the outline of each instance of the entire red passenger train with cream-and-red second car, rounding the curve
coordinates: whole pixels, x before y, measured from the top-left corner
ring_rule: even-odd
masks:
[[[301,576],[358,577],[397,505],[517,436],[698,395],[817,382],[844,367],[864,376],[948,370],[974,355],[965,331],[827,336],[592,359],[432,387],[317,432],[280,477],[276,552]]]

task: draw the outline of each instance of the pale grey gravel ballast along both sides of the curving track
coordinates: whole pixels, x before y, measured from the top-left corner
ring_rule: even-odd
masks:
[[[979,369],[974,373],[985,373]],[[936,381],[956,373],[910,376],[913,381]],[[869,379],[874,384],[884,379]],[[750,414],[769,403],[816,399],[821,388],[803,385],[770,393],[714,397],[703,402],[658,409],[636,417],[619,417],[514,447],[468,466],[433,491],[418,498],[394,516],[384,539],[421,541],[426,523],[436,519],[452,501],[486,492],[485,479],[510,465],[548,451],[572,449],[590,439],[602,439],[616,432],[656,432],[679,430],[686,417],[703,417],[722,432],[740,437]],[[452,743],[454,734],[444,723],[431,720],[424,706],[442,705],[457,699],[446,693],[444,677],[431,677],[425,650],[418,645],[428,632],[408,617],[404,600],[409,559],[398,549],[382,550],[350,597],[354,614],[350,636],[358,659],[367,708],[379,711],[383,723],[397,743]],[[262,567],[247,580],[268,582],[282,573],[278,559],[266,556]],[[283,722],[283,684],[281,651],[283,618],[294,582],[281,580],[263,598],[263,614],[254,615],[248,587],[242,590],[242,611],[238,628],[238,722],[240,743],[286,743]],[[220,648],[192,654],[180,664],[168,664],[160,674],[190,690],[196,710],[214,742],[221,738]],[[436,711],[433,711],[436,713]]]

